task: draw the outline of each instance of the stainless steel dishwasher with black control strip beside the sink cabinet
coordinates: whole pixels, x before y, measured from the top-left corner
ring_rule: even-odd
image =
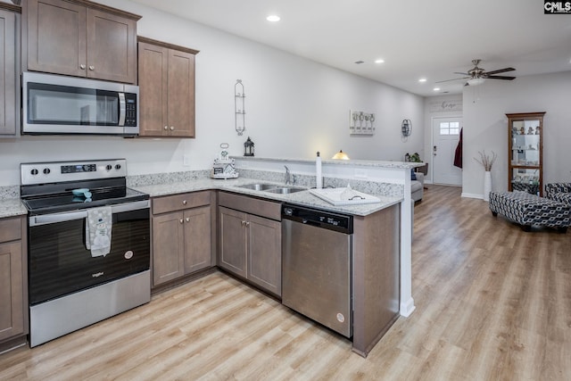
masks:
[[[282,302],[352,336],[352,216],[282,205]]]

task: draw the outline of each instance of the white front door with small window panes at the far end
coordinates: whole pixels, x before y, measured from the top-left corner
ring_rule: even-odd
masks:
[[[462,185],[462,170],[454,167],[454,154],[459,143],[461,118],[434,118],[433,182],[451,186]]]

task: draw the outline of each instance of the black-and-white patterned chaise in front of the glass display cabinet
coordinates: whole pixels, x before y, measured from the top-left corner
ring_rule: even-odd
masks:
[[[490,192],[492,215],[501,216],[530,231],[533,225],[557,228],[567,232],[571,226],[571,204],[525,192]]]

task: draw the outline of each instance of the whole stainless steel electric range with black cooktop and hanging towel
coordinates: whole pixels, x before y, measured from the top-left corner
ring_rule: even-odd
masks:
[[[125,159],[21,164],[30,346],[151,300],[149,196]]]

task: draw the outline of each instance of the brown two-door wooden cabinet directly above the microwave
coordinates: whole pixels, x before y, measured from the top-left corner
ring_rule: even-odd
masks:
[[[24,70],[137,83],[139,19],[85,0],[25,0]]]

